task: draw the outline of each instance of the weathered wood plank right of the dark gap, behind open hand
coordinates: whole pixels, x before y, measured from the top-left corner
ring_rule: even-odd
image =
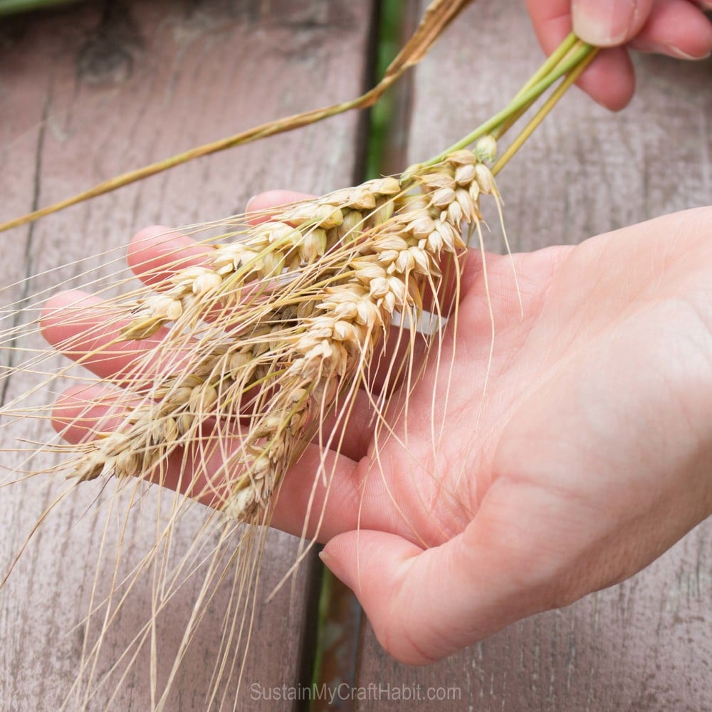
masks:
[[[479,1],[417,69],[408,160],[505,105],[540,62],[519,3]],[[499,181],[515,250],[582,239],[712,201],[712,63],[637,60],[618,115],[572,92]],[[491,248],[499,249],[497,239]],[[363,634],[360,710],[712,708],[712,521],[631,580],[503,630],[441,664],[397,664]],[[386,686],[391,686],[389,695]],[[451,701],[417,701],[428,690]],[[404,692],[403,692],[404,691]],[[411,693],[416,701],[394,701]]]

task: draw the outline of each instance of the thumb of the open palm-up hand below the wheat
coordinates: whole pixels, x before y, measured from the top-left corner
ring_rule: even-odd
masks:
[[[549,607],[535,592],[522,595],[518,563],[503,562],[477,528],[475,518],[425,550],[394,534],[352,531],[331,539],[321,557],[355,592],[383,648],[425,665]]]

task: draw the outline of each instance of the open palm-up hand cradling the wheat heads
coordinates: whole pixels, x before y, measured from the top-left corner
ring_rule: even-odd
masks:
[[[375,440],[357,400],[342,453],[328,454],[328,496],[316,485],[309,533],[387,651],[428,663],[565,606],[632,576],[712,513],[711,224],[712,209],[696,209],[577,247],[487,255],[489,368],[473,252],[457,330],[451,321],[407,422],[392,416],[392,436]],[[154,234],[133,241],[132,265],[165,261]],[[176,241],[195,256],[189,239]],[[47,314],[53,343],[78,328]],[[121,359],[88,365],[108,375]],[[64,423],[90,415],[77,392],[58,413]],[[286,476],[276,526],[302,533],[319,457],[310,446]]]

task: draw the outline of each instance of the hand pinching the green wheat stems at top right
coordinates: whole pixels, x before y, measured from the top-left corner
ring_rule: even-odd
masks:
[[[710,0],[527,0],[544,51],[551,53],[571,31],[602,51],[578,85],[598,103],[622,109],[635,88],[628,48],[681,59],[712,52],[712,23],[702,10]]]

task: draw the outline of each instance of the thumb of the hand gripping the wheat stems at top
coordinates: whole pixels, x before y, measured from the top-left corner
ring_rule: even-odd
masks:
[[[574,32],[599,47],[624,44],[641,31],[653,0],[573,0]]]

